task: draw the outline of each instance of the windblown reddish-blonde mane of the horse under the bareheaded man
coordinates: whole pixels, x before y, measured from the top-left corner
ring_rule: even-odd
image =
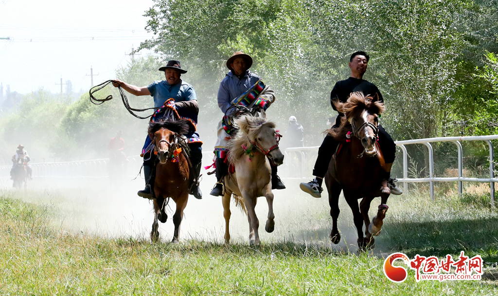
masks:
[[[358,91],[351,93],[346,103],[334,101],[334,105],[337,111],[344,113],[346,116],[341,118],[341,125],[339,127],[328,129],[326,132],[339,142],[346,141],[346,134],[352,131],[349,120],[357,112],[367,109],[371,114],[380,114],[385,110],[384,103],[376,99],[373,100],[372,96],[365,96],[362,92]]]

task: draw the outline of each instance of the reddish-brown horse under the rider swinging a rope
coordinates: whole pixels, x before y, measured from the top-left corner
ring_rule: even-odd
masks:
[[[175,232],[173,242],[178,241],[180,223],[183,219],[183,210],[187,206],[189,194],[190,167],[185,154],[187,145],[181,145],[184,141],[181,135],[189,132],[189,124],[186,120],[162,121],[149,123],[149,137],[154,144],[158,162],[154,182],[154,222],[150,239],[159,240],[159,223],[166,222],[168,216],[165,207],[169,199],[176,204],[176,212],[173,215]]]

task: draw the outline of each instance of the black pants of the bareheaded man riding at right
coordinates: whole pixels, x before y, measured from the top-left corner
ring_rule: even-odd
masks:
[[[318,157],[316,158],[315,168],[313,169],[313,176],[320,178],[325,176],[325,173],[329,168],[330,159],[336,152],[338,144],[339,143],[329,135],[323,139],[322,145],[318,149]],[[392,163],[396,154],[396,144],[394,144],[391,136],[387,134],[381,125],[378,126],[378,144],[384,154],[385,163]]]

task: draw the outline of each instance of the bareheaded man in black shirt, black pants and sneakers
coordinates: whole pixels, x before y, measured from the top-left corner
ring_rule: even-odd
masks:
[[[355,91],[362,92],[365,96],[368,95],[378,95],[379,101],[383,102],[382,94],[378,90],[375,84],[364,80],[363,75],[367,71],[367,65],[370,57],[367,53],[363,51],[355,52],[351,55],[349,68],[351,68],[351,77],[346,80],[341,80],[334,85],[332,92],[330,93],[330,103],[332,104],[332,108],[337,111],[334,106],[334,101],[339,100],[345,103],[350,94]],[[336,123],[332,126],[339,127],[341,124],[341,118],[344,117],[344,113],[340,113],[337,116]],[[391,136],[387,134],[387,132],[382,128],[382,126],[378,126],[378,143],[382,153],[384,154],[386,173],[385,180],[389,185],[392,194],[400,195],[403,192],[399,189],[395,184],[395,179],[390,177],[392,162],[394,161],[394,154],[396,152],[396,145],[392,140]],[[338,143],[329,135],[325,137],[322,145],[318,149],[318,157],[315,163],[315,168],[313,169],[313,175],[315,179],[308,183],[301,183],[299,187],[304,192],[311,194],[311,196],[319,198],[321,197],[322,189],[322,181],[327,169],[329,167],[330,159],[332,155],[335,153]]]

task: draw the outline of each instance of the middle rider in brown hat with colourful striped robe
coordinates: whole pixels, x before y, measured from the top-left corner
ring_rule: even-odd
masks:
[[[229,110],[229,108],[235,104],[244,105],[253,112],[258,112],[266,110],[275,101],[273,90],[264,85],[258,75],[249,71],[251,65],[252,58],[240,51],[235,52],[227,61],[227,68],[230,71],[221,81],[218,89],[218,106],[227,117],[234,115],[234,109]],[[247,99],[246,95],[251,93],[256,84],[262,86],[262,90],[253,100]],[[231,135],[224,128],[223,120],[220,121],[218,124],[218,141],[214,151],[216,155],[216,179],[218,182],[210,193],[213,196],[223,195],[222,179],[228,171],[225,159],[230,137]],[[271,187],[272,189],[285,189],[285,185],[277,176],[276,166],[271,166]]]

